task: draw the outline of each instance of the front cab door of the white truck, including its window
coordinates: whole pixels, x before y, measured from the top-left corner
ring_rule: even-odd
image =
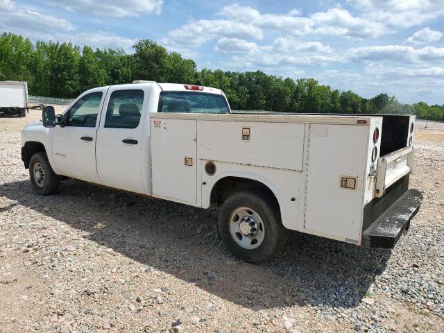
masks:
[[[96,170],[96,130],[105,91],[98,88],[80,96],[64,114],[66,126],[53,128],[53,159],[58,174],[101,183]]]

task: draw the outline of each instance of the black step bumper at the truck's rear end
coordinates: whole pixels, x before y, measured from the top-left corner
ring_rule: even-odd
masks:
[[[421,203],[420,191],[405,191],[366,228],[362,234],[362,244],[370,248],[394,248],[402,232],[409,228],[410,221],[418,212]]]

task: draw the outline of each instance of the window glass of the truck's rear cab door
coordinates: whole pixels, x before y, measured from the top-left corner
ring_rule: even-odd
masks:
[[[112,92],[106,110],[105,127],[136,128],[144,103],[144,91],[138,89]]]

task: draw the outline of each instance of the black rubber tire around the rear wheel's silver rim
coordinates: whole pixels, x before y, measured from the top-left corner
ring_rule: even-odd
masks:
[[[257,248],[245,248],[239,245],[239,242],[234,239],[235,236],[230,232],[230,223],[235,223],[232,221],[232,216],[235,220],[235,214],[241,207],[250,208],[262,220],[264,237]],[[239,216],[237,218],[239,219]],[[282,225],[275,198],[270,198],[261,191],[239,191],[229,196],[222,204],[218,224],[219,234],[228,250],[239,259],[252,264],[272,259],[282,250],[288,238],[288,230]],[[238,239],[245,237],[239,232],[236,234]],[[246,240],[249,241],[248,238]]]

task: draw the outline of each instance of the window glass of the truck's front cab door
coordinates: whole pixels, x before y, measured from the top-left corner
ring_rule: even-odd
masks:
[[[67,126],[96,127],[102,92],[92,92],[79,99],[71,109]]]

